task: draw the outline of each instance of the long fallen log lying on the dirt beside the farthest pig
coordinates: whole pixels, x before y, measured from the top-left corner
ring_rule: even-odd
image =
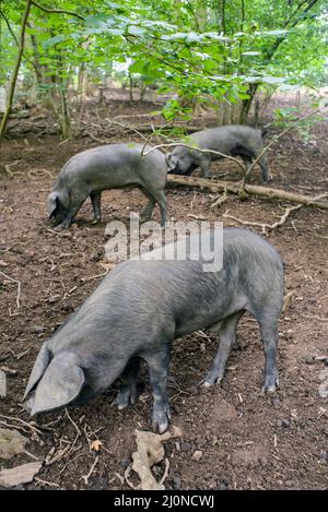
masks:
[[[231,181],[214,181],[204,178],[195,178],[192,176],[179,176],[179,175],[167,175],[168,183],[185,184],[187,187],[196,187],[199,189],[210,190],[211,192],[227,192],[238,194],[241,184]],[[245,184],[245,191],[253,195],[267,199],[281,199],[283,201],[290,201],[291,203],[304,204],[305,206],[316,206],[319,209],[328,210],[328,202],[321,202],[318,198],[324,199],[328,197],[328,193],[321,194],[317,198],[309,195],[296,194],[294,192],[288,192],[285,190],[271,189],[269,187],[261,187],[256,184]]]

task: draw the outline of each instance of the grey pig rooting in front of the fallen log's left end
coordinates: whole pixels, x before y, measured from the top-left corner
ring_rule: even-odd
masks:
[[[54,224],[69,227],[89,195],[94,211],[93,223],[96,224],[101,219],[103,190],[138,187],[149,200],[141,221],[149,221],[159,203],[164,226],[167,221],[165,156],[157,150],[141,156],[142,148],[144,144],[108,144],[70,158],[48,197],[48,214]]]

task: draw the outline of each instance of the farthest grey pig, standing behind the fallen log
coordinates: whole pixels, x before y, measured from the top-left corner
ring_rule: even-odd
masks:
[[[253,158],[257,158],[262,151],[260,130],[238,124],[196,132],[189,139],[188,145],[195,145],[200,150],[219,151],[224,155],[241,156],[247,169],[249,169]],[[166,163],[169,174],[190,176],[197,167],[200,167],[202,176],[209,178],[211,160],[220,158],[223,157],[177,145],[172,153],[166,155]],[[258,164],[261,168],[262,180],[268,181],[266,159],[260,157]]]

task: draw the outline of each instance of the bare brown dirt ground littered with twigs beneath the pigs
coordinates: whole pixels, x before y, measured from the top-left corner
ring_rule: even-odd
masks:
[[[115,105],[108,106],[110,115]],[[136,112],[153,109],[151,105],[133,108]],[[119,111],[130,112],[129,105],[120,105]],[[95,289],[97,276],[106,271],[106,222],[128,223],[130,211],[140,211],[145,200],[137,190],[107,191],[99,225],[91,224],[86,202],[68,231],[50,230],[45,203],[60,166],[77,152],[97,144],[86,138],[60,144],[57,135],[25,136],[11,133],[0,160],[0,272],[21,283],[17,308],[17,284],[0,274],[0,366],[14,370],[8,374],[8,395],[0,398],[0,427],[20,428],[30,438],[30,454],[39,461],[49,452],[48,459],[62,455],[43,466],[38,478],[44,481],[21,488],[128,489],[122,476],[136,449],[133,430],[151,429],[145,369],[138,400],[124,412],[112,406],[117,383],[87,405],[69,409],[70,417],[65,412],[48,414],[37,424],[22,408],[22,397],[42,343]],[[268,141],[271,136],[272,132]],[[131,139],[138,136],[125,140]],[[112,142],[120,140],[118,135]],[[314,127],[311,143],[289,133],[268,153],[273,175],[270,186],[312,195],[327,192],[327,121]],[[13,177],[5,172],[7,164],[13,164]],[[235,164],[221,160],[212,168],[220,178],[241,179]],[[250,182],[260,183],[258,168]],[[181,187],[169,187],[167,199],[175,219],[192,214],[222,221],[225,226],[237,225],[223,216],[227,210],[244,221],[273,223],[288,206],[231,195],[221,209],[211,209],[213,194]],[[167,489],[328,488],[328,402],[318,394],[325,364],[313,361],[315,356],[328,357],[327,221],[324,211],[303,207],[268,237],[284,260],[285,293],[293,291],[280,322],[280,389],[274,396],[260,393],[263,350],[250,317],[239,323],[221,386],[198,386],[215,354],[215,336],[192,334],[176,341],[168,395],[172,424],[183,429],[183,438],[165,443]],[[95,440],[102,442],[98,452],[90,448]],[[67,446],[71,450],[62,454]],[[196,450],[202,452],[199,461],[192,460]],[[86,484],[83,476],[95,457]],[[33,461],[22,454],[2,461],[1,467]],[[164,462],[154,469],[157,479],[163,471]]]

